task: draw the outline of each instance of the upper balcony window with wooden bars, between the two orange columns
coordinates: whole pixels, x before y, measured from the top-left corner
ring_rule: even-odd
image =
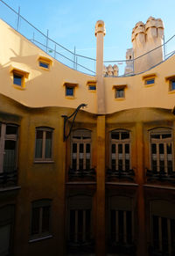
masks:
[[[130,170],[130,132],[114,130],[110,134],[110,165],[112,170]]]

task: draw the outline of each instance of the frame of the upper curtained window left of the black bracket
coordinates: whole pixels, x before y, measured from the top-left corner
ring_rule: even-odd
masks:
[[[47,127],[37,127],[35,128],[35,150],[34,150],[34,163],[52,163],[53,162],[53,128],[47,128]],[[37,158],[36,157],[36,149],[37,149],[37,132],[42,131],[43,136],[42,136],[42,157]],[[51,157],[46,158],[45,157],[45,136],[46,132],[51,132],[52,133],[52,146],[51,146]]]

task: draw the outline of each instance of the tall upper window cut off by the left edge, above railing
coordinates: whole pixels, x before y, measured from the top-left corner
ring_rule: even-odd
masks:
[[[18,126],[0,122],[0,173],[17,168]]]

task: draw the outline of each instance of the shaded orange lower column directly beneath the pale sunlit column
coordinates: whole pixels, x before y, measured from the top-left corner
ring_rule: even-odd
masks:
[[[105,256],[105,115],[97,117],[96,256]]]

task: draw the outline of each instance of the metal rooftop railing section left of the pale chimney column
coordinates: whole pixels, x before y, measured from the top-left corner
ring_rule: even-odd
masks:
[[[42,33],[20,14],[20,8],[15,11],[10,5],[0,0],[0,18],[21,33],[32,43],[41,48],[47,55],[71,69],[76,69],[91,76],[95,76],[95,58],[76,54],[49,37],[49,30]]]

